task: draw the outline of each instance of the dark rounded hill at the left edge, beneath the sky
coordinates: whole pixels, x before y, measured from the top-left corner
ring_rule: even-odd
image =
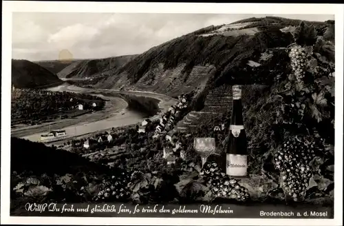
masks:
[[[63,81],[40,65],[12,59],[12,84],[15,88],[42,88],[59,83]]]

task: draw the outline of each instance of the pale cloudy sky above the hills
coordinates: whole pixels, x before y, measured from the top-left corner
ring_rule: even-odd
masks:
[[[266,16],[334,20],[334,15],[325,14],[14,12],[12,59],[55,60],[62,50],[71,52],[74,59],[140,54],[208,25]]]

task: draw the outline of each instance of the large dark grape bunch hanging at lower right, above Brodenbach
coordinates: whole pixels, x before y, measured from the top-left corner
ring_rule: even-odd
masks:
[[[299,201],[312,177],[310,161],[314,158],[312,143],[290,137],[275,154],[275,167],[281,172],[283,189],[286,194]]]

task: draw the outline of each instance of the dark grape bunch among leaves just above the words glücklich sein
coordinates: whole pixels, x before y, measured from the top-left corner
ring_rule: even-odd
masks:
[[[131,196],[131,192],[127,186],[130,180],[130,175],[131,174],[127,172],[121,172],[116,176],[111,176],[111,178],[103,179],[103,183],[100,185],[99,192],[93,197],[93,200],[127,201]]]

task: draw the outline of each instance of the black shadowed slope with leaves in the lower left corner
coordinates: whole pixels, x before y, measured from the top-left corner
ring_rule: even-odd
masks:
[[[11,212],[23,209],[28,201],[38,202],[45,194],[49,194],[47,201],[78,201],[80,198],[72,188],[80,189],[104,174],[111,174],[105,165],[43,143],[11,137],[10,145]]]

